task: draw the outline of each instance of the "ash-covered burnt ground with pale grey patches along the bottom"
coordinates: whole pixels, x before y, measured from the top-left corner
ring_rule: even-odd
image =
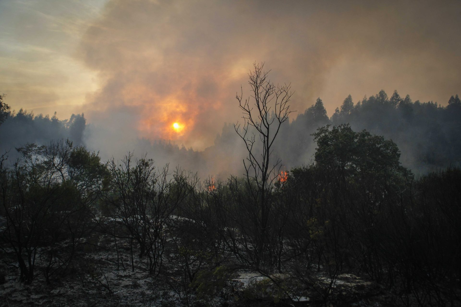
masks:
[[[67,240],[60,242],[62,246],[66,243]],[[290,278],[290,272],[267,278],[259,272],[238,266],[232,268],[235,259],[230,254],[226,260],[227,267],[232,268],[230,273],[219,280],[213,279],[216,274],[205,274],[201,282],[207,289],[203,290],[200,283],[191,283],[183,266],[178,265],[173,243],[166,243],[160,272],[155,273],[149,273],[147,257],[139,258],[137,245],[133,243],[133,271],[130,241],[100,232],[92,232],[89,237],[81,239],[72,260],[56,271],[49,284],[43,273],[47,260],[41,256],[43,248],[39,248],[33,281],[21,283],[15,255],[3,243],[2,246],[1,306],[406,305],[364,276],[343,273],[331,281],[326,270],[320,267],[310,276],[315,285],[306,289],[305,285]],[[202,264],[202,270],[197,272],[206,272],[210,267]]]

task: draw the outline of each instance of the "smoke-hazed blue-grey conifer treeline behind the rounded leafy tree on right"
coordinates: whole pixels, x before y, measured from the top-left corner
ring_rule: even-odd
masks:
[[[331,118],[318,98],[284,128],[284,136],[278,139],[278,155],[291,166],[308,163],[315,148],[311,134],[326,124],[346,123],[356,131],[366,129],[392,139],[402,151],[403,165],[418,173],[460,166],[461,101],[458,95],[451,96],[448,105],[442,106],[432,101],[413,102],[408,95],[400,97],[397,91],[389,98],[383,90],[356,104],[349,95]]]

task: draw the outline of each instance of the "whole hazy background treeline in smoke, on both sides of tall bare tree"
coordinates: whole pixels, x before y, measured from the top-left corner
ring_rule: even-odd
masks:
[[[89,136],[85,136],[88,127],[83,114],[72,115],[69,120],[59,120],[56,115],[50,118],[34,116],[24,110],[19,110],[18,113],[5,110],[3,116],[5,118],[0,126],[0,147],[3,151],[9,150],[13,155],[14,148],[26,143],[47,145],[52,140],[70,139],[74,145],[85,145],[88,137],[92,138],[91,132],[88,133]],[[347,123],[355,131],[366,129],[383,135],[386,139],[392,139],[402,151],[402,164],[417,174],[448,166],[460,166],[461,139],[458,131],[461,131],[461,102],[458,95],[452,96],[447,106],[442,106],[432,101],[413,102],[408,95],[402,98],[396,91],[391,97],[380,91],[357,103],[349,95],[331,118],[328,117],[322,100],[318,98],[304,113],[284,124],[274,144],[274,155],[281,158],[288,168],[309,164],[314,158],[316,145],[312,134],[317,128],[327,124]],[[101,137],[103,135],[98,134],[98,138]],[[91,143],[98,144],[95,140]],[[243,171],[241,162],[245,157],[245,149],[233,125],[225,124],[214,145],[205,151],[194,151],[170,142],[152,142],[146,139],[131,140],[126,146],[133,148],[136,154],[155,153],[157,162],[171,162],[175,165],[181,163],[185,168],[199,170],[202,175],[214,174],[225,179],[231,171],[238,170],[238,174]],[[106,158],[114,155],[112,151],[106,152],[105,148],[92,150],[100,150]],[[12,156],[13,159],[16,157]]]

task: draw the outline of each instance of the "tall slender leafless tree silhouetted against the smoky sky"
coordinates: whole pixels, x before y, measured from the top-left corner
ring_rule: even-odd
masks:
[[[239,107],[243,113],[243,126],[234,125],[236,133],[242,138],[248,151],[246,160],[243,160],[245,176],[250,189],[252,203],[256,207],[255,216],[252,217],[256,224],[255,261],[260,267],[264,254],[270,254],[266,250],[266,229],[270,217],[270,195],[274,180],[277,180],[278,169],[281,160],[272,162],[272,145],[276,139],[282,123],[288,120],[290,110],[290,98],[292,96],[291,85],[274,85],[268,78],[269,71],[264,71],[264,63],[253,64],[254,71],[248,74],[248,84],[251,87],[251,98],[243,99],[241,94],[236,95]],[[257,141],[259,136],[260,142]],[[277,170],[277,172],[275,172]],[[271,176],[272,174],[272,176]]]

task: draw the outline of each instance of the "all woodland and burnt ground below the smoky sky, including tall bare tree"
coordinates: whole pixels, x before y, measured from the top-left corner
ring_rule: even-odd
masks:
[[[331,118],[319,98],[292,122],[285,97],[203,153],[157,143],[200,166],[240,137],[245,175],[227,180],[130,152],[104,162],[83,114],[13,114],[2,97],[0,145],[18,156],[0,159],[6,304],[459,306],[459,97],[349,96]]]

